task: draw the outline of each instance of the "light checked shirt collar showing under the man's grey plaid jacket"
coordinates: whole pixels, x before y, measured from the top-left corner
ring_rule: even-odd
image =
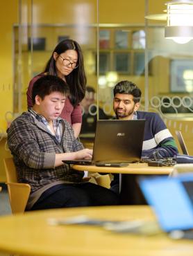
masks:
[[[39,115],[33,109],[29,109],[28,112],[31,113],[31,116],[33,116],[33,118],[37,119],[39,122],[42,122],[45,125],[45,127],[47,127],[49,132],[51,132],[51,134],[56,137],[56,140],[58,140],[59,143],[61,142],[59,122],[60,122],[60,120],[62,120],[62,118],[58,117],[56,120],[52,121],[53,122],[53,129],[55,131],[55,134],[53,134],[53,132],[50,129],[49,122],[46,120],[46,118],[44,118],[44,116]]]

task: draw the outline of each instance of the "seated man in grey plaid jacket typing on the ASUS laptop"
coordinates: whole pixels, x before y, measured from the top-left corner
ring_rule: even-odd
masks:
[[[33,86],[33,108],[8,129],[18,181],[31,185],[26,210],[118,203],[115,192],[83,182],[83,172],[62,162],[92,158],[92,150],[83,149],[71,125],[60,118],[68,92],[59,77],[40,77]]]

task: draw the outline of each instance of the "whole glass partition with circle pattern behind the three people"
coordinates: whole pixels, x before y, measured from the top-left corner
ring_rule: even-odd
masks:
[[[83,137],[93,136],[97,118],[114,115],[112,88],[120,80],[140,86],[140,109],[160,113],[173,135],[182,129],[192,136],[193,41],[165,39],[166,21],[144,19],[163,10],[162,0],[20,0],[13,26],[15,116],[27,109],[28,82],[43,71],[56,44],[72,38],[83,49],[87,75]],[[193,153],[193,141],[190,147]]]

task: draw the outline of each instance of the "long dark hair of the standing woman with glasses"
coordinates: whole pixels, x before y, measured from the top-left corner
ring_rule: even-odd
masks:
[[[78,68],[75,68],[71,73],[69,73],[69,75],[65,76],[66,82],[69,84],[69,100],[72,105],[75,106],[85,97],[85,86],[87,80],[85,76],[83,53],[81,51],[81,47],[76,41],[72,39],[63,40],[56,46],[53,53],[56,52],[60,55],[61,53],[65,53],[67,50],[75,50],[78,53]],[[56,60],[53,58],[53,53],[47,62],[44,73],[57,76]]]

